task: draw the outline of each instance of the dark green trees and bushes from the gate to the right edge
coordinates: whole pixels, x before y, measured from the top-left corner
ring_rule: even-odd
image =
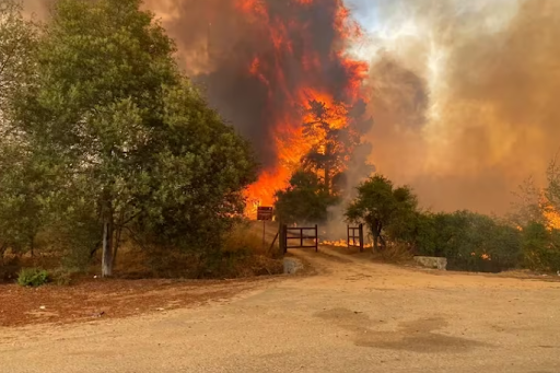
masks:
[[[326,222],[336,200],[325,194],[320,180],[302,175],[277,195],[277,214],[287,223]],[[347,222],[364,224],[373,253],[388,261],[438,256],[446,257],[447,268],[455,270],[526,268],[556,273],[560,270],[560,168],[556,162],[547,178],[541,190],[527,180],[517,193],[518,203],[504,218],[468,210],[424,211],[411,188],[395,186],[383,175],[361,183],[357,197],[342,206]],[[306,179],[312,182],[302,182]]]

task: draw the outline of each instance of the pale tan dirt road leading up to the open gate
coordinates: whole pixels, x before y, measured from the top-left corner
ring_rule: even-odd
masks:
[[[315,276],[195,308],[0,329],[0,372],[560,372],[560,283],[323,248]]]

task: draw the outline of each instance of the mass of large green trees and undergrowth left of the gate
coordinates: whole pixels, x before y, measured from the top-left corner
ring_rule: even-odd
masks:
[[[278,271],[243,219],[252,148],[140,4],[58,0],[39,25],[0,0],[3,278]]]

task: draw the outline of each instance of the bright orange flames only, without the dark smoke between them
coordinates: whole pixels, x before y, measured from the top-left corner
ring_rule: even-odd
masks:
[[[277,190],[284,189],[292,173],[301,165],[302,158],[306,155],[313,147],[319,145],[326,137],[326,131],[313,131],[310,136],[303,130],[303,124],[312,121],[308,112],[312,102],[319,102],[328,110],[329,126],[331,128],[348,128],[351,125],[348,107],[358,100],[364,100],[361,93],[362,81],[368,74],[368,65],[355,61],[345,54],[345,42],[361,35],[360,27],[355,22],[350,21],[349,10],[343,5],[342,0],[330,0],[329,3],[336,4],[334,14],[332,31],[337,33],[337,40],[342,40],[340,45],[334,46],[330,58],[337,60],[345,69],[347,79],[343,92],[331,92],[331,89],[325,83],[322,60],[318,53],[315,51],[310,36],[308,25],[299,23],[298,20],[283,20],[271,16],[268,4],[262,0],[236,0],[236,8],[245,14],[252,23],[258,24],[264,35],[267,35],[269,45],[272,48],[275,58],[261,59],[254,56],[247,73],[260,80],[268,89],[270,102],[270,121],[273,125],[272,140],[270,145],[275,150],[276,162],[273,165],[262,170],[258,180],[246,190],[248,201],[248,214],[253,214],[257,206],[271,206],[275,202]],[[294,7],[311,7],[325,0],[283,0],[291,1]],[[290,35],[301,36],[304,45],[298,44],[299,53],[294,53],[295,45]],[[301,51],[303,49],[303,53]],[[284,72],[280,68],[282,61],[287,58],[296,60],[299,69],[303,72],[301,81],[296,89],[293,83],[287,83]],[[269,61],[268,65],[265,60]],[[271,86],[271,81],[277,86]],[[291,86],[291,89],[289,89]],[[285,113],[277,113],[273,107],[275,93],[281,91],[289,97],[292,109]],[[335,96],[343,94],[345,103],[339,103]],[[348,106],[347,106],[348,105]]]

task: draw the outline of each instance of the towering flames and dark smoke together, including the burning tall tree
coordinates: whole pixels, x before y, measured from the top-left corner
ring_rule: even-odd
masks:
[[[349,151],[337,148],[354,125],[350,108],[364,101],[368,73],[368,63],[347,51],[360,30],[343,1],[180,3],[177,8],[188,11],[167,27],[189,51],[187,69],[206,86],[210,103],[252,140],[261,161],[247,199],[273,203],[302,159],[332,190]]]

